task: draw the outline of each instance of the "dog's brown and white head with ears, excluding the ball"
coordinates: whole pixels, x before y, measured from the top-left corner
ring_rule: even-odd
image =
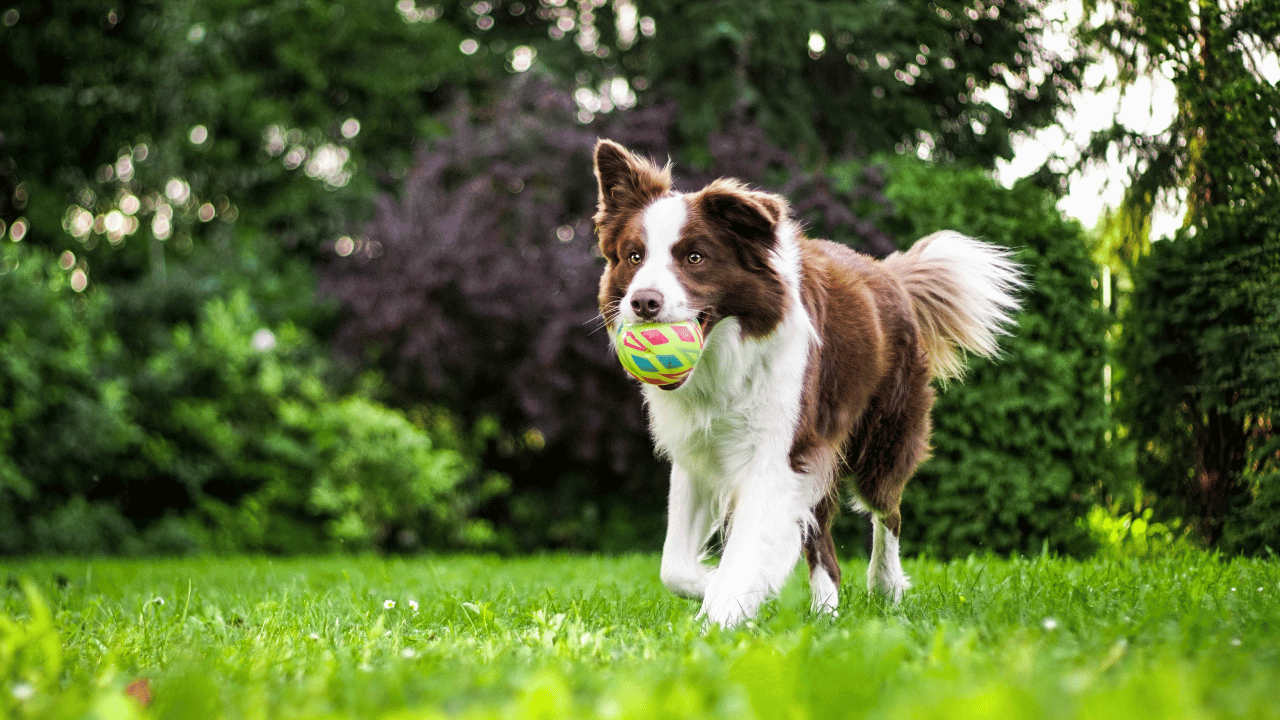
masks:
[[[595,232],[608,265],[600,313],[608,325],[698,320],[705,337],[737,318],[748,337],[782,320],[786,286],[776,268],[781,197],[719,179],[698,192],[672,190],[671,169],[621,145],[595,146],[600,200]]]

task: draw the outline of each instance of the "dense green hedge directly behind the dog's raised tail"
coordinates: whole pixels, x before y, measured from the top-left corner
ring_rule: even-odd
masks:
[[[1075,520],[1116,479],[1102,389],[1107,316],[1074,223],[1029,183],[1005,190],[978,169],[890,165],[887,227],[906,247],[956,229],[1011,247],[1029,290],[996,361],[940,388],[933,457],[902,500],[908,552],[1080,552]]]

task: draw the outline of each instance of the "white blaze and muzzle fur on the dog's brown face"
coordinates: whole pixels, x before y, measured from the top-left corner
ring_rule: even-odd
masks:
[[[698,310],[690,307],[689,293],[676,277],[676,260],[671,249],[680,241],[680,232],[689,218],[689,206],[682,195],[662,197],[645,208],[640,220],[644,225],[644,260],[631,278],[631,286],[622,297],[622,319],[637,323],[640,318],[631,309],[631,297],[636,291],[657,290],[662,293],[662,310],[653,322],[678,323],[692,320]],[[623,263],[628,260],[622,259]]]

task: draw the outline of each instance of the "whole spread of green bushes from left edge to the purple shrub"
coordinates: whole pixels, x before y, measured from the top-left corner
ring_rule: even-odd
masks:
[[[477,546],[504,489],[443,414],[335,396],[316,341],[244,291],[134,357],[110,300],[0,256],[0,553]]]

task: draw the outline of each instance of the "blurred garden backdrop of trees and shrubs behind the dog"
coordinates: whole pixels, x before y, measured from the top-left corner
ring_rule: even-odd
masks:
[[[1268,553],[1277,46],[1277,0],[0,0],[0,553],[660,547],[598,137],[1016,250],[909,555]]]

